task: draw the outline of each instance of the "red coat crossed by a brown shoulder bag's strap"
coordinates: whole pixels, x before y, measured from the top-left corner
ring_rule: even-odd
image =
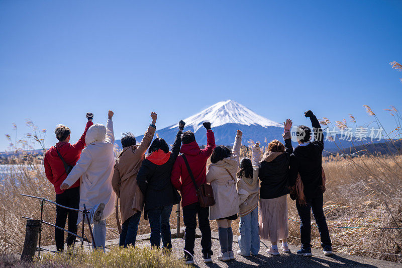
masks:
[[[212,130],[207,130],[207,147],[203,150],[199,149],[195,141],[181,145],[180,152],[187,158],[191,172],[195,178],[195,183],[198,186],[206,182],[207,160],[214,148],[215,136]],[[191,181],[190,174],[181,155],[174,162],[170,180],[173,186],[181,193],[182,207],[198,202],[194,184]]]

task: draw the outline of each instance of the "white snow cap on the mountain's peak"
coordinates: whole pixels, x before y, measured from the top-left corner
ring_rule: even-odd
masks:
[[[260,125],[262,127],[282,126],[277,122],[257,115],[247,107],[231,100],[216,103],[213,106],[183,120],[186,123],[186,127],[193,127],[194,132],[202,127],[204,122],[211,122],[211,127],[213,128],[228,123],[247,126]],[[170,129],[177,127],[178,124],[171,126]]]

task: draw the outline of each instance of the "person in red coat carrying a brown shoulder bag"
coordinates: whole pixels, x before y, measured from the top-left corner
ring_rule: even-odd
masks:
[[[199,149],[194,133],[186,131],[181,136],[183,145],[180,148],[180,153],[185,155],[194,175],[195,183],[198,186],[206,183],[207,160],[215,148],[215,136],[211,130],[211,123],[205,122],[203,125],[207,129],[207,147],[203,150]],[[203,247],[204,262],[212,262],[210,211],[209,208],[199,206],[195,187],[182,155],[178,156],[174,162],[170,180],[173,186],[181,193],[181,206],[183,207],[185,225],[184,249],[194,255],[195,228],[197,227],[195,217],[198,215],[198,227],[202,233],[201,246]],[[194,263],[188,253],[185,253],[185,261],[187,264]]]

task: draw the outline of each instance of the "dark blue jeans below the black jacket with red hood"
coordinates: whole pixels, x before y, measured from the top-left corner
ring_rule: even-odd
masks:
[[[172,208],[173,205],[167,205],[147,210],[149,225],[151,225],[151,246],[160,247],[162,233],[163,247],[172,248],[169,223]]]

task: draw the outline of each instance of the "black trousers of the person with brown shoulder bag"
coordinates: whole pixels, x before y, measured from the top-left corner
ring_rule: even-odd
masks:
[[[198,215],[198,228],[201,231],[201,246],[203,254],[213,254],[211,247],[210,208],[202,208],[199,203],[193,203],[183,207],[183,221],[185,226],[184,249],[194,255],[196,216]],[[187,255],[187,253],[185,253]]]

